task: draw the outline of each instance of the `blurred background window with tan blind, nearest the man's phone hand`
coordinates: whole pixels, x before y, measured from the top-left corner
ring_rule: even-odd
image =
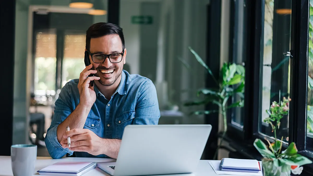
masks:
[[[86,35],[65,35],[64,58],[62,62],[62,87],[72,79],[78,79],[84,70]]]

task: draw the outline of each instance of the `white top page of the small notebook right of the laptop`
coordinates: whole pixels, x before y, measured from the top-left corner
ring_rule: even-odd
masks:
[[[234,158],[225,158],[224,167],[231,168],[255,168],[259,169],[259,163],[255,159],[234,159]]]

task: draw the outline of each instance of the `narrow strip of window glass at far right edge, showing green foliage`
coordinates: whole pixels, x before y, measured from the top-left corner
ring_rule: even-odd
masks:
[[[312,3],[310,3],[309,20],[309,57],[308,57],[308,107],[307,107],[307,149],[313,150],[313,14],[311,13]]]

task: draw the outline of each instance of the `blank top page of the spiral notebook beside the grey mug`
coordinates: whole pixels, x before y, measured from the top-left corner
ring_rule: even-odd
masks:
[[[92,162],[57,162],[41,169],[41,172],[78,173],[78,171]]]

